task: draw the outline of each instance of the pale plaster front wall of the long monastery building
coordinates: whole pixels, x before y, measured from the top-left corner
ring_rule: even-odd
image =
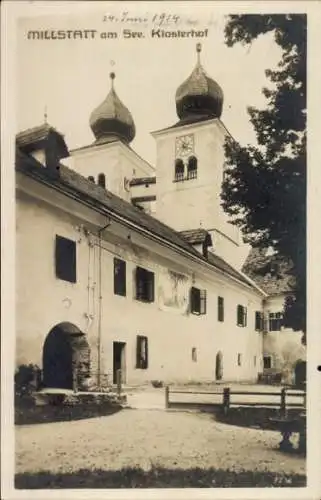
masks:
[[[218,351],[223,353],[223,381],[257,380],[263,334],[255,331],[254,316],[261,310],[262,293],[23,174],[17,174],[17,182],[17,364],[41,367],[47,334],[67,321],[86,333],[95,373],[100,368],[111,376],[113,342],[126,343],[128,384],[213,381]],[[107,223],[100,261],[98,230]],[[75,284],[55,276],[56,234],[77,242]],[[114,256],[127,263],[126,297],[114,295]],[[136,265],[155,272],[153,303],[134,298]],[[173,287],[168,270],[183,277],[178,287]],[[192,284],[207,290],[205,315],[189,313]],[[217,320],[218,295],[225,300],[224,322]],[[244,328],[236,325],[238,304],[248,308]],[[148,337],[148,369],[135,367],[137,335]]]

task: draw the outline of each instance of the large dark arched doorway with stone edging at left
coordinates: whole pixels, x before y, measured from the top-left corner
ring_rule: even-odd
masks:
[[[72,323],[59,323],[43,346],[43,382],[46,387],[72,389],[90,375],[90,348],[86,335]]]

